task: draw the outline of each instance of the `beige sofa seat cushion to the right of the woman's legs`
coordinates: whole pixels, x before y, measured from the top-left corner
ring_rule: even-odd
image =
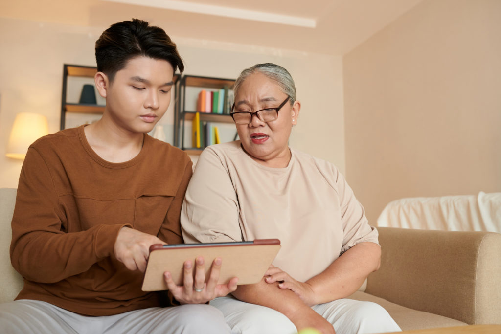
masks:
[[[397,322],[402,330],[460,326],[467,324],[442,315],[400,306],[386,299],[376,297],[362,291],[357,291],[348,298],[362,301],[372,301],[381,305],[388,311],[388,313],[390,313],[391,317]]]

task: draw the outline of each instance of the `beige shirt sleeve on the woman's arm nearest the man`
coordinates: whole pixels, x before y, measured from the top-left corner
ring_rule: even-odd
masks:
[[[186,243],[242,241],[235,189],[223,158],[210,146],[198,158],[188,185],[181,229]]]

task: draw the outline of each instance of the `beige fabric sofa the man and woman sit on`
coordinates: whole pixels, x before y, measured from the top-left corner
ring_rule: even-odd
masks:
[[[0,302],[23,279],[9,245],[16,189],[0,189]],[[385,227],[381,268],[351,298],[381,304],[402,329],[501,323],[501,234]]]

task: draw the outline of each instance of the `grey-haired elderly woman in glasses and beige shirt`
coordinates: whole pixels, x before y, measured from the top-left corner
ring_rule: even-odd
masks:
[[[234,94],[240,140],[200,155],[181,213],[183,236],[279,238],[282,248],[260,283],[211,304],[237,333],[399,331],[381,306],[346,299],[379,267],[378,233],[334,165],[288,146],[301,109],[289,72],[255,65],[240,74]]]

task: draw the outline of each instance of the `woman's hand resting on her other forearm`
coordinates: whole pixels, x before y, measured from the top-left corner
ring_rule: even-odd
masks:
[[[268,276],[268,277],[267,277]],[[265,282],[275,283],[279,282],[279,288],[289,289],[296,293],[301,300],[308,306],[313,306],[315,302],[315,291],[313,287],[304,282],[300,282],[293,277],[291,277],[287,272],[283,271],[279,267],[270,265],[270,268],[265,273]]]

